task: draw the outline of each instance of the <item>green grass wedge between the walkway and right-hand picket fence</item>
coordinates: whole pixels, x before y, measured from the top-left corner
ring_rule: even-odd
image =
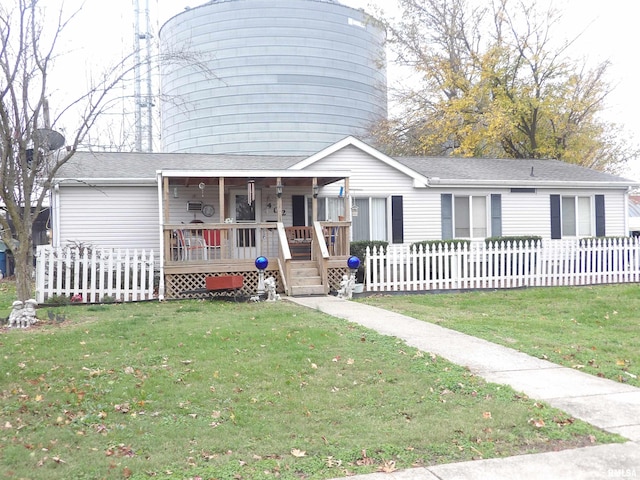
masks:
[[[637,284],[376,295],[362,301],[640,386]]]

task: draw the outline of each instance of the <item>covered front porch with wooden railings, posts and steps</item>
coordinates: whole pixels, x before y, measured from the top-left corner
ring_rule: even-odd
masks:
[[[242,275],[241,294],[254,295],[258,256],[291,296],[337,290],[347,273],[344,172],[159,171],[158,195],[164,298],[202,295],[205,279],[222,275]]]

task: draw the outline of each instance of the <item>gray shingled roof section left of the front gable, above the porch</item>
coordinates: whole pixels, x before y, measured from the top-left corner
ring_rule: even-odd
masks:
[[[58,178],[155,180],[156,170],[285,170],[305,157],[198,153],[77,152]]]

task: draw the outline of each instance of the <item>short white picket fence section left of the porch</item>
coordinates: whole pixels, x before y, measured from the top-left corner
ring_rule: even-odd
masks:
[[[109,297],[119,302],[154,298],[153,250],[53,248],[36,252],[36,300],[54,295],[93,303]]]

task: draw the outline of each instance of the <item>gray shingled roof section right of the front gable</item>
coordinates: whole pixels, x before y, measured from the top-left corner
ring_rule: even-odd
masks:
[[[425,177],[442,180],[636,183],[616,175],[559,160],[452,157],[394,157],[394,160]]]

